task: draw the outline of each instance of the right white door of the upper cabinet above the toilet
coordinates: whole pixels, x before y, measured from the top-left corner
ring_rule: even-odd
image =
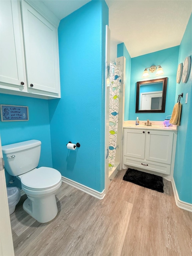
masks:
[[[57,29],[25,1],[21,2],[28,87],[58,93]]]

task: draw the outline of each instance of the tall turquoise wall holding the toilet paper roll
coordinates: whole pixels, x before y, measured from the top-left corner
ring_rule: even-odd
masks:
[[[49,101],[53,167],[97,191],[104,189],[105,1],[91,1],[60,21],[61,99]],[[79,149],[68,150],[72,141]]]

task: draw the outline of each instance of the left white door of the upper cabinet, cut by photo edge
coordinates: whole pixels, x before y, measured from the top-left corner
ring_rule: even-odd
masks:
[[[17,1],[1,1],[0,8],[0,82],[1,88],[22,90],[25,82],[22,39],[20,38]],[[4,84],[3,84],[4,83]],[[6,87],[7,86],[7,87]]]

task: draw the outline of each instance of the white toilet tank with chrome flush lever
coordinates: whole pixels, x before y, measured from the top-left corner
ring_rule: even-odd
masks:
[[[5,170],[12,176],[17,176],[38,166],[41,141],[27,140],[2,146]]]

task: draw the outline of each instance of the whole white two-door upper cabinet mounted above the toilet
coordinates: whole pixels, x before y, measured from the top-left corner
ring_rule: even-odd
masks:
[[[0,92],[60,98],[57,25],[28,2],[0,1]]]

